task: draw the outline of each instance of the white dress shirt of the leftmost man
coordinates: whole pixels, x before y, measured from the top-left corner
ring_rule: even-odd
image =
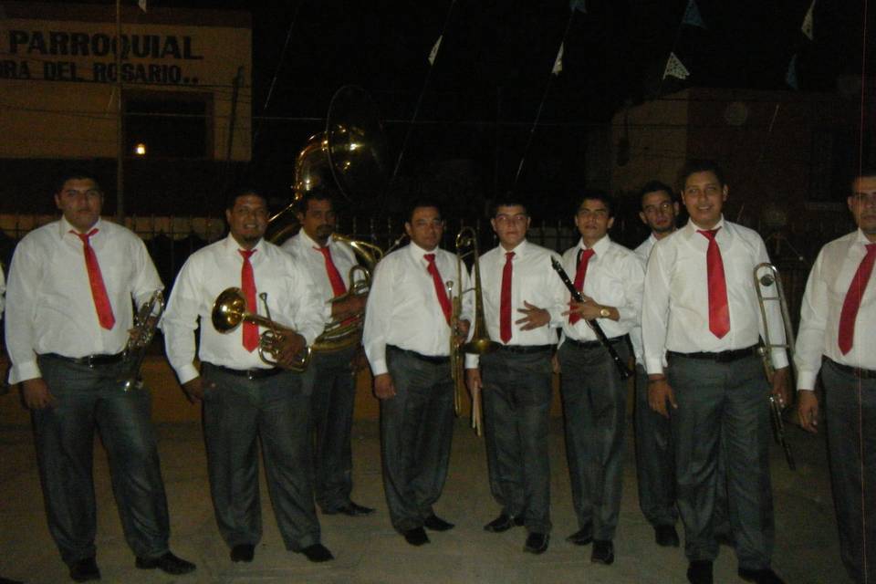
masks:
[[[6,292],[6,346],[12,360],[9,382],[40,377],[36,355],[79,358],[115,354],[133,326],[131,296],[140,306],[163,288],[146,245],[130,230],[98,220],[89,244],[98,258],[115,324],[98,320],[82,241],[59,221],[33,230],[16,246]]]

